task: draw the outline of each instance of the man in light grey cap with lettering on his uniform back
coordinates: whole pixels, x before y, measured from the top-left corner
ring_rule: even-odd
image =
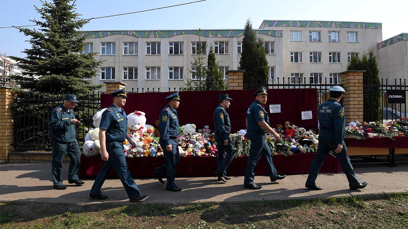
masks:
[[[321,190],[316,185],[317,174],[324,159],[330,151],[336,152],[335,156],[340,162],[344,174],[346,174],[350,189],[361,189],[367,186],[367,182],[360,183],[354,174],[353,166],[348,158],[346,144],[344,144],[344,106],[339,103],[345,90],[340,86],[329,89],[330,99],[319,106],[318,118],[320,123],[319,146],[317,153],[310,165],[309,176],[306,180],[306,188]]]

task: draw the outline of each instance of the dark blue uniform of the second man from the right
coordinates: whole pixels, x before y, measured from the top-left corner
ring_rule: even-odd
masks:
[[[246,164],[244,185],[250,186],[254,184],[254,169],[261,155],[271,180],[277,178],[279,174],[273,164],[271,149],[265,140],[265,134],[267,132],[257,123],[259,121],[265,121],[269,125],[269,118],[265,107],[255,99],[246,113],[248,130],[245,137],[251,140],[251,148],[249,149],[248,163]]]

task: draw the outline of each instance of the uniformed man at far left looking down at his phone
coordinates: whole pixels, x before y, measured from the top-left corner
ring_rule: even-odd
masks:
[[[67,189],[62,184],[62,161],[65,154],[71,158],[69,163],[68,183],[83,185],[84,182],[78,179],[81,152],[78,141],[75,139],[75,124],[80,123],[75,119],[72,110],[78,100],[75,95],[66,95],[65,102],[54,108],[51,112],[51,139],[52,139],[52,163],[51,174],[56,189]]]

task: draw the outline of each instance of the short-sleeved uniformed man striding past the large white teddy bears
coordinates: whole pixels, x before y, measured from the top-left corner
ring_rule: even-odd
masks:
[[[99,141],[101,145],[101,159],[104,161],[95,182],[92,185],[89,197],[104,200],[108,196],[102,195],[100,189],[115,168],[122,185],[129,196],[130,202],[140,201],[147,197],[142,195],[136,183],[132,179],[126,158],[123,154],[123,141],[127,139],[132,147],[136,143],[131,139],[127,131],[127,117],[122,106],[126,103],[126,88],[110,93],[113,97],[112,105],[102,113],[99,126]]]

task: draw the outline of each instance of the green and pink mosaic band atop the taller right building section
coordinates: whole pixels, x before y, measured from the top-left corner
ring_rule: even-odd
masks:
[[[323,22],[323,21],[264,21],[265,27],[326,27],[326,28],[355,28],[382,29],[382,23],[370,22]]]

